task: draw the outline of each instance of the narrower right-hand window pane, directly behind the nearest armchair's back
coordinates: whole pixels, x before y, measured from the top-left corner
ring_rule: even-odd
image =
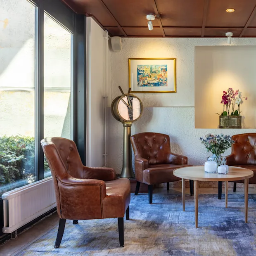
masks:
[[[71,139],[71,36],[45,14],[44,135]],[[50,175],[45,162],[45,178]]]

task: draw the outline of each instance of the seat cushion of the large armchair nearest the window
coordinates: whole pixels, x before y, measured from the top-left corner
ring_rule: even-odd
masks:
[[[102,200],[104,218],[122,218],[130,204],[130,180],[107,181],[107,196]]]

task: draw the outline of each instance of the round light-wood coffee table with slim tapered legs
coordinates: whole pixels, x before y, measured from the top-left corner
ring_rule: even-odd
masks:
[[[218,174],[206,173],[204,166],[189,166],[175,169],[173,175],[182,179],[183,211],[185,211],[185,180],[194,180],[194,215],[196,228],[198,227],[198,181],[225,181],[225,206],[228,208],[228,181],[244,180],[244,221],[247,223],[248,179],[254,175],[253,171],[229,166],[228,174]]]

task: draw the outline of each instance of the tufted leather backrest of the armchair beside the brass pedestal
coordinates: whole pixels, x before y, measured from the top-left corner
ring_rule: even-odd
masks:
[[[167,164],[171,153],[170,137],[161,133],[138,133],[131,136],[134,154],[148,160],[149,165]]]

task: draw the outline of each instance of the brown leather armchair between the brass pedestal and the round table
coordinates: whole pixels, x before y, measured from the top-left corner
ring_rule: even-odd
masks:
[[[161,133],[138,133],[130,137],[135,155],[135,195],[140,183],[148,184],[149,204],[152,204],[153,185],[181,180],[173,175],[173,170],[187,165],[187,156],[171,153],[170,137]],[[190,181],[190,194],[193,194]]]

